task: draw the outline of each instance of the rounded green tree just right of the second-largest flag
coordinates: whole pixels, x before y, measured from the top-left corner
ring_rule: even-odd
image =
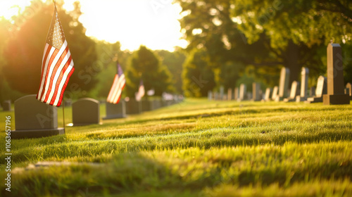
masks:
[[[144,89],[154,89],[156,96],[161,96],[164,91],[175,91],[172,87],[172,76],[168,68],[161,64],[160,58],[146,46],[140,46],[134,51],[127,68],[126,96],[134,98],[138,91],[139,82],[143,80]]]

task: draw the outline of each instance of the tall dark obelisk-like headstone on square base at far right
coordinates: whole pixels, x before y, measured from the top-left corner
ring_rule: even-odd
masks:
[[[339,44],[327,46],[327,94],[323,95],[324,105],[349,104],[350,98],[344,92],[344,67]]]

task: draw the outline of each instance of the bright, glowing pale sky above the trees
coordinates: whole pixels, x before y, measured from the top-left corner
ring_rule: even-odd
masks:
[[[74,1],[64,0],[63,7],[72,10]],[[80,4],[83,14],[79,20],[87,36],[111,43],[120,41],[122,50],[134,51],[141,44],[168,51],[187,46],[180,39],[178,19],[182,8],[172,0],[81,0]],[[9,19],[19,8],[29,5],[30,0],[1,0],[0,15]]]

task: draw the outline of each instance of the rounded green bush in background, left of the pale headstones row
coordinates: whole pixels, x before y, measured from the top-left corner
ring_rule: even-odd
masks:
[[[206,51],[191,51],[183,65],[184,96],[206,96],[215,87],[214,72],[210,67]]]

